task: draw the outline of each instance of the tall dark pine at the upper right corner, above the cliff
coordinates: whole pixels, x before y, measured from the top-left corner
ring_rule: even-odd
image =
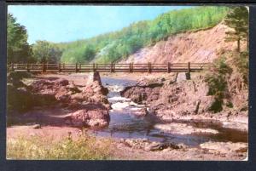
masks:
[[[237,51],[240,52],[241,41],[247,40],[248,47],[248,11],[246,7],[235,7],[231,9],[224,19],[226,26],[232,28],[226,31],[226,42],[237,42]]]

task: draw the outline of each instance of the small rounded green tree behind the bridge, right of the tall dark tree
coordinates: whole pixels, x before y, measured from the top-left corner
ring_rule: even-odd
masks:
[[[54,43],[37,41],[32,45],[32,54],[38,63],[57,63],[61,58],[61,49]]]

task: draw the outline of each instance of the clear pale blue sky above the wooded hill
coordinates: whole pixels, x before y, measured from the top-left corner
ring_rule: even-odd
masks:
[[[8,12],[26,26],[28,43],[37,40],[61,43],[118,31],[139,20],[184,6],[49,6],[10,5]]]

